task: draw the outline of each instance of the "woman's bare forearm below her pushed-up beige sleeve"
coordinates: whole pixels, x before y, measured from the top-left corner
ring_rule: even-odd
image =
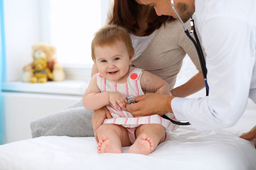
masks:
[[[186,83],[175,89],[172,89],[171,93],[172,96],[187,97],[203,89],[204,87],[204,76],[202,72],[199,72],[195,74],[191,79],[189,79]]]

